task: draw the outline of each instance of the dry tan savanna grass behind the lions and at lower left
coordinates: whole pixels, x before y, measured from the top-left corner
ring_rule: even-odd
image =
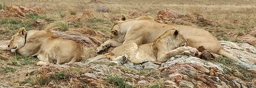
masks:
[[[125,15],[127,19],[139,17],[139,15],[131,15],[130,12],[136,12],[151,17],[156,17],[160,10],[172,9],[183,15],[198,13],[203,15],[205,19],[214,21],[215,25],[198,26],[210,31],[218,40],[239,41],[239,37],[247,35],[255,30],[256,27],[256,1],[255,0],[1,0],[0,9],[6,9],[7,5],[17,5],[25,7],[34,7],[39,5],[46,11],[42,14],[28,14],[24,19],[17,17],[1,17],[0,18],[0,40],[5,41],[11,39],[11,35],[17,32],[20,27],[27,30],[47,29],[48,24],[54,23],[59,31],[67,31],[68,29],[86,28],[94,31],[101,31],[105,35],[109,35],[115,19]],[[89,11],[93,17],[82,19],[75,23],[66,23],[65,17],[76,15]],[[43,19],[48,23],[43,25],[35,25],[35,21]],[[0,51],[0,54],[9,57],[9,60],[0,58],[0,74],[1,81],[10,86],[19,86],[26,83],[45,85],[47,82],[36,77],[24,77],[27,73],[34,69],[38,69],[36,62],[38,59],[34,57],[24,57],[9,51]],[[92,49],[90,54],[86,53],[82,61],[96,54]],[[221,62],[221,61],[220,61]],[[86,71],[86,70],[82,70]],[[80,72],[82,73],[82,72]],[[56,73],[53,78],[57,81],[66,81],[66,73]],[[49,78],[49,79],[50,79]],[[69,77],[67,76],[69,79]],[[113,77],[115,80],[121,80]],[[109,78],[108,80],[113,80]],[[0,84],[1,85],[1,84]],[[61,85],[61,83],[60,83]]]

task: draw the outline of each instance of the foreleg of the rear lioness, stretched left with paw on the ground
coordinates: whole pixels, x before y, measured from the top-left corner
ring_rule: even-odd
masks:
[[[102,53],[103,51],[105,51],[109,47],[118,47],[120,45],[123,45],[123,43],[120,43],[119,41],[115,41],[113,39],[109,39],[109,40],[105,41],[103,44],[101,44],[100,47],[97,47],[96,53],[99,54],[99,53]]]

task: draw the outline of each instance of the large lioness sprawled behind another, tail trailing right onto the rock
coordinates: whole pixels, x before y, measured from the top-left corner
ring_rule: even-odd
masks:
[[[97,48],[96,52],[101,53],[108,47],[117,47],[126,43],[136,43],[137,45],[153,43],[163,33],[170,29],[178,29],[180,34],[187,40],[187,45],[198,49],[204,47],[211,53],[224,55],[239,61],[233,55],[227,53],[218,40],[204,29],[185,25],[168,25],[157,23],[150,17],[139,17],[127,21],[118,21],[111,29],[111,39]]]

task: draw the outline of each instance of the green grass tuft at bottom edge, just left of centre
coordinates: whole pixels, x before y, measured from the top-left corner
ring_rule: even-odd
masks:
[[[131,88],[131,85],[127,85],[125,83],[125,80],[121,77],[109,76],[109,77],[107,77],[107,81],[109,83],[116,85],[119,88]]]

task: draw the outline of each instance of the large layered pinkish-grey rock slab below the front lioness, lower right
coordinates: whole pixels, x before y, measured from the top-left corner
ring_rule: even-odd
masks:
[[[243,77],[241,73],[236,73],[240,74],[239,76],[226,75],[226,71],[231,68],[197,57],[184,55],[172,57],[163,63],[159,70],[164,73],[162,75],[169,75],[178,87],[240,87],[247,84],[239,78],[239,76]],[[241,85],[237,86],[237,83]]]

